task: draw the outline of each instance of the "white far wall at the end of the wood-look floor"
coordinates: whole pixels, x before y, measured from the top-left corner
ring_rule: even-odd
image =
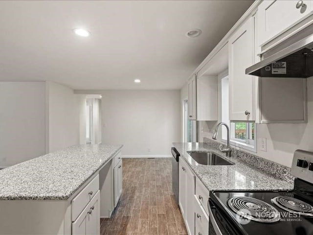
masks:
[[[180,140],[179,91],[99,92],[102,142],[124,144],[129,157],[170,156],[172,142]]]

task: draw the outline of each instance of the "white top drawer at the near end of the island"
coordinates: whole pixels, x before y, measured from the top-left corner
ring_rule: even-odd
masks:
[[[72,221],[84,210],[92,197],[99,190],[99,175],[93,178],[90,183],[71,202]]]

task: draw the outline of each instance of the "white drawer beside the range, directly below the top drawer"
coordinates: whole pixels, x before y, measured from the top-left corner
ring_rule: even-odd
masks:
[[[201,202],[195,195],[195,235],[209,234],[209,217],[203,210]]]

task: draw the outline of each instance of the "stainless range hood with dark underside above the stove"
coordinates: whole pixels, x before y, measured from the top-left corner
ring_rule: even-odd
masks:
[[[313,34],[288,42],[262,54],[261,62],[246,69],[246,74],[259,77],[313,76]]]

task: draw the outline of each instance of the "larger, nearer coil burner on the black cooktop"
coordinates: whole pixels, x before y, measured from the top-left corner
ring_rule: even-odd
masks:
[[[256,198],[235,196],[229,198],[227,204],[237,215],[250,220],[273,223],[280,219],[276,208]]]

